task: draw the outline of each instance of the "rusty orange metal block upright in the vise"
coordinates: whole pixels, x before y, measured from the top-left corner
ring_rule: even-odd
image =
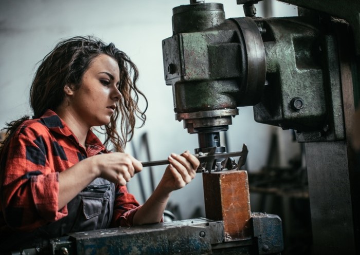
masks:
[[[247,172],[232,170],[203,173],[206,218],[224,221],[225,240],[251,236]]]

